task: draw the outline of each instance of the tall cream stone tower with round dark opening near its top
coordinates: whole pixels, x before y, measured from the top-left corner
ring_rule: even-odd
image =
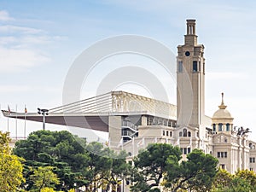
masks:
[[[199,129],[205,137],[204,46],[197,44],[195,20],[187,20],[183,45],[177,46],[177,125]]]

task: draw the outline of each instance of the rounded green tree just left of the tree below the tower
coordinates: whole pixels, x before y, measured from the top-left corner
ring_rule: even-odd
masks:
[[[146,192],[159,187],[167,169],[167,160],[178,164],[181,160],[181,151],[166,143],[150,144],[134,159],[131,169],[132,191]]]

